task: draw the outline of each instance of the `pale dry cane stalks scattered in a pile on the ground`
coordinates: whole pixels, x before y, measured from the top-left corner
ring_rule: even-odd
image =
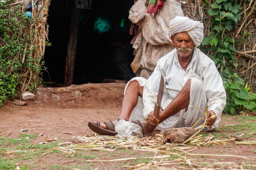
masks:
[[[194,106],[197,107],[197,106]],[[197,107],[198,108],[198,107]],[[199,109],[199,108],[198,108]],[[206,109],[206,117],[209,117],[209,112],[207,107]],[[200,110],[200,109],[199,109]],[[200,110],[203,114],[204,112]],[[205,122],[201,124],[197,129],[197,133],[191,136],[188,140],[184,141],[182,144],[175,143],[163,143],[162,135],[155,134],[150,137],[138,138],[136,136],[133,137],[123,137],[123,136],[73,136],[69,141],[59,143],[59,146],[56,148],[49,149],[43,155],[50,153],[53,150],[62,151],[68,154],[71,157],[74,157],[76,151],[75,150],[90,150],[90,151],[109,151],[113,152],[118,149],[129,149],[135,151],[145,151],[145,152],[153,152],[155,153],[154,157],[131,157],[131,158],[121,158],[121,159],[112,159],[107,160],[102,158],[96,158],[93,160],[87,160],[87,162],[112,162],[112,161],[126,161],[126,160],[134,160],[134,159],[152,159],[151,162],[145,164],[140,163],[133,166],[124,165],[123,167],[131,168],[131,169],[170,169],[167,167],[172,167],[175,165],[176,168],[184,169],[184,167],[179,167],[180,164],[187,164],[190,166],[188,169],[243,169],[243,165],[238,165],[235,162],[220,162],[212,157],[237,157],[240,159],[247,160],[256,160],[256,157],[253,156],[242,156],[242,155],[219,155],[219,154],[195,154],[195,150],[201,147],[211,146],[212,144],[216,145],[231,145],[235,142],[238,144],[256,144],[256,141],[236,141],[235,138],[230,137],[229,134],[221,133],[223,136],[215,137],[215,134],[209,134],[206,137],[203,137],[199,132],[206,127]],[[218,129],[218,128],[217,128]],[[220,129],[218,129],[221,131]],[[221,131],[223,132],[223,131]],[[202,132],[201,132],[202,133]],[[250,133],[250,134],[255,134]],[[73,139],[73,140],[72,140]],[[72,141],[80,141],[77,144],[72,144]],[[64,146],[65,145],[65,146]],[[194,153],[191,153],[194,151]],[[171,156],[175,155],[176,158],[173,160],[168,160]],[[207,156],[208,162],[202,162],[197,158],[191,158],[194,156]],[[189,158],[188,158],[189,157]],[[213,162],[212,162],[213,161]],[[256,165],[248,165],[251,167],[255,167]],[[171,169],[176,169],[172,167]]]

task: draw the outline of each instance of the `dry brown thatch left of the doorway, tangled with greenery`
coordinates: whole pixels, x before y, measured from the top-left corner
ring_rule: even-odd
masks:
[[[17,90],[17,96],[21,96],[27,89],[35,90],[40,84],[41,59],[44,56],[48,32],[46,19],[49,3],[50,0],[1,1],[1,8],[8,10],[9,13],[5,16],[4,24],[11,29],[13,24],[19,25],[18,30],[7,32],[9,42],[0,37],[1,47],[7,46],[10,42],[19,47],[14,54],[10,51],[13,50],[11,47],[6,48],[2,53],[5,57],[2,58],[10,64],[7,68],[6,66],[0,68],[0,72],[4,72],[5,75],[15,75],[13,78],[18,82],[14,87]],[[32,15],[26,18],[25,12],[28,11],[28,5],[31,5]],[[16,20],[12,21],[13,19]]]

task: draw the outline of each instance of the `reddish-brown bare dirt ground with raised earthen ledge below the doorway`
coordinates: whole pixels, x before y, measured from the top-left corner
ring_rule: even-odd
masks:
[[[118,118],[121,110],[124,87],[125,84],[122,83],[102,83],[80,86],[72,85],[70,87],[61,88],[41,88],[37,92],[36,100],[27,101],[27,106],[16,106],[10,101],[7,101],[0,109],[0,137],[19,138],[20,134],[29,133],[39,135],[42,133],[42,136],[38,136],[31,141],[31,144],[38,144],[39,142],[46,141],[47,137],[57,137],[64,141],[64,138],[71,138],[72,136],[94,136],[95,133],[89,129],[87,123],[89,121],[103,122]],[[247,134],[246,127],[242,130],[239,129],[239,131],[236,129],[235,125],[242,123],[240,119],[241,116],[231,117],[223,115],[219,128],[223,130],[225,128],[224,125],[232,124],[234,127],[229,129],[229,132]],[[248,120],[248,122],[255,124],[254,120]],[[28,129],[28,131],[21,132],[21,129]],[[62,134],[64,131],[73,132],[73,134]],[[219,131],[217,133],[223,132]],[[245,141],[256,141],[255,139],[255,134],[252,134],[245,138]],[[0,147],[4,148],[5,144]],[[254,158],[242,159],[234,156],[207,155],[187,155],[187,158],[196,158],[199,162],[233,162],[239,166],[237,169],[256,169],[255,145],[236,145],[233,141],[229,142],[229,145],[213,144],[210,147],[201,146],[201,148],[197,148],[191,151],[191,153],[250,156]],[[44,156],[34,156],[33,159],[17,159],[16,164],[26,165],[28,169],[124,169],[123,165],[148,163],[152,161],[152,159],[148,159],[148,162],[129,160],[93,163],[89,163],[87,160],[105,156],[107,156],[107,158],[104,160],[141,157],[145,155],[154,156],[155,153],[126,149],[111,153],[107,151],[77,151],[77,155],[79,156],[67,158],[66,154],[63,153],[49,153]],[[4,155],[2,158],[14,160],[19,156],[20,155],[9,154]],[[197,169],[197,167],[186,165],[186,163],[182,161],[178,164],[165,166],[165,168],[170,169],[172,167],[177,169]]]

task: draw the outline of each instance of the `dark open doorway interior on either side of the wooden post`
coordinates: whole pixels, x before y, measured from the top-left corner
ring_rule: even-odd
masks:
[[[72,3],[53,0],[49,7],[49,42],[44,54],[46,84],[64,85],[66,52]],[[128,19],[132,0],[92,0],[92,9],[81,9],[73,84],[102,83],[103,79],[130,80],[133,36]]]

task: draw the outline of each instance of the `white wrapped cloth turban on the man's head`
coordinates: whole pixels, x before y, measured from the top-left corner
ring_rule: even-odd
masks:
[[[188,17],[176,16],[170,21],[169,31],[171,35],[180,32],[187,32],[193,40],[195,46],[200,46],[204,38],[204,25],[199,21],[194,21]]]

